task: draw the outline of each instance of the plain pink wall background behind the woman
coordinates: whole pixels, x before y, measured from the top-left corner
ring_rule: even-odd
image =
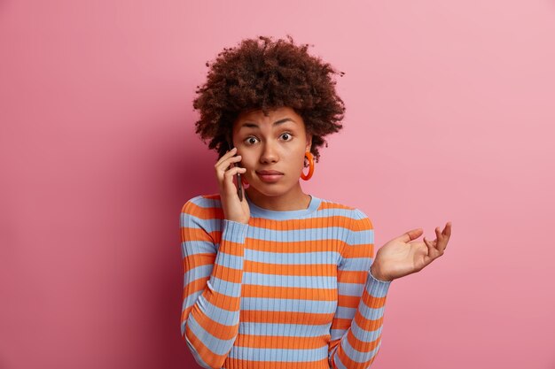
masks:
[[[195,367],[179,211],[217,188],[194,90],[223,47],[286,34],[346,73],[305,192],[377,246],[453,222],[392,283],[372,368],[555,368],[546,0],[0,2],[0,368]]]

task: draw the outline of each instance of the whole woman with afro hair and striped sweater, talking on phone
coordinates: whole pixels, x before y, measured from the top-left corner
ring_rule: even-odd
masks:
[[[391,281],[449,241],[450,223],[431,242],[413,229],[374,258],[363,211],[302,191],[345,107],[337,72],[288,39],[224,49],[193,103],[197,133],[219,153],[219,193],[181,212],[181,332],[202,367],[368,368]]]

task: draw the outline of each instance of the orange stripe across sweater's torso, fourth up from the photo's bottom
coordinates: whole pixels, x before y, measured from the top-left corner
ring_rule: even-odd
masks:
[[[336,289],[303,288],[303,287],[276,287],[244,284],[241,296],[243,297],[269,297],[291,298],[317,301],[335,301]]]

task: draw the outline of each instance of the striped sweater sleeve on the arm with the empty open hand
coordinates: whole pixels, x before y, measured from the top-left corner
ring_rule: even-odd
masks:
[[[333,369],[371,366],[381,344],[381,328],[390,281],[375,279],[374,233],[370,219],[356,209],[338,266],[338,307],[328,351]]]

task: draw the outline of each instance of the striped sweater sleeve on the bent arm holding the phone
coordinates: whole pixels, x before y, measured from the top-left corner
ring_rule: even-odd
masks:
[[[181,334],[200,366],[219,369],[238,335],[248,225],[217,219],[215,208],[203,206],[206,200],[200,196],[189,200],[180,216]]]

